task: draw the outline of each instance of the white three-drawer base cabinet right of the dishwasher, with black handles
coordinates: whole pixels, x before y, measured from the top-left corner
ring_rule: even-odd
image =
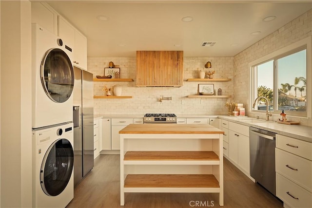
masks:
[[[276,196],[288,207],[312,207],[312,143],[276,135]]]

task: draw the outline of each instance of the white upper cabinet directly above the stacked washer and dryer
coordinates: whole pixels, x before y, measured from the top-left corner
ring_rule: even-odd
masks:
[[[58,35],[58,14],[46,3],[31,3],[31,22]]]

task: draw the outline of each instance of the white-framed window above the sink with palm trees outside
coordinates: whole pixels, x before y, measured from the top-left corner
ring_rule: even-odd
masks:
[[[308,58],[310,48],[311,43],[292,44],[292,47],[250,63],[251,103],[258,96],[268,100],[258,98],[251,111],[266,111],[269,105],[272,113],[279,114],[284,110],[288,115],[311,116],[308,107],[311,106],[311,92],[307,91],[307,77],[311,77],[311,69],[309,72],[307,65],[311,62]]]

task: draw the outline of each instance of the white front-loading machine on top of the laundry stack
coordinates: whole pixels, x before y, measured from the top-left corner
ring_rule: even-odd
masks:
[[[32,128],[73,120],[74,69],[66,41],[32,23]]]

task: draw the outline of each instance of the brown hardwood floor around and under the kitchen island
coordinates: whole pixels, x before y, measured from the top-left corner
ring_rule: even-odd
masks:
[[[99,155],[93,170],[75,188],[67,208],[219,207],[216,193],[125,193],[122,207],[119,164],[119,155]],[[224,208],[282,207],[281,201],[224,159]]]

